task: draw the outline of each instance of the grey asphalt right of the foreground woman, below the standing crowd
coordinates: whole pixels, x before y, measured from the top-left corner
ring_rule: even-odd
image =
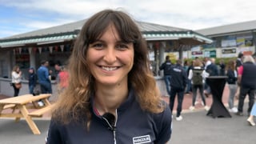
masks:
[[[245,103],[245,108],[247,103]],[[246,110],[246,109],[245,109]],[[250,126],[247,114],[232,118],[212,118],[205,110],[182,114],[183,120],[173,119],[173,134],[169,144],[253,144],[256,126]],[[256,120],[256,118],[254,118]]]

